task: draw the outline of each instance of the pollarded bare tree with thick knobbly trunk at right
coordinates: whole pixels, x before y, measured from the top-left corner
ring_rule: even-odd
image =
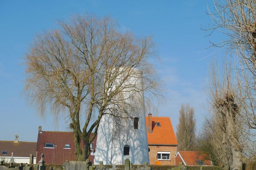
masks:
[[[243,138],[242,114],[239,100],[239,86],[231,66],[224,62],[223,67],[215,69],[212,64],[209,104],[212,115],[207,120],[213,151],[224,169],[241,170]],[[244,143],[242,143],[244,142]]]

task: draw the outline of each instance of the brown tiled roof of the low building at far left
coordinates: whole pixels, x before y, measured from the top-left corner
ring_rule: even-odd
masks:
[[[2,152],[7,151],[6,155]],[[36,142],[13,142],[13,141],[0,141],[0,156],[9,157],[29,157],[30,154],[36,156]]]

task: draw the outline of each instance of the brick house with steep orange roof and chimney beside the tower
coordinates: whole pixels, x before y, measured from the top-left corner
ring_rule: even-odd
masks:
[[[149,163],[175,165],[177,139],[169,117],[146,116]]]

